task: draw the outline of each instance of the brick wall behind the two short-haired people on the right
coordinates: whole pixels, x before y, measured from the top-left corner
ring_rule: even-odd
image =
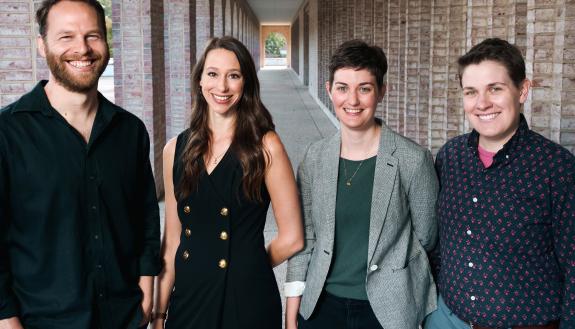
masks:
[[[333,50],[363,38],[388,56],[388,92],[379,114],[390,127],[437,152],[467,132],[456,61],[487,37],[523,52],[533,90],[524,106],[531,127],[575,151],[575,3],[567,0],[308,0],[310,93],[331,107],[324,81]],[[294,18],[294,23],[297,19]],[[317,24],[317,29],[313,26]],[[306,34],[307,33],[307,34]],[[305,81],[307,69],[298,70]],[[313,85],[313,87],[311,87]]]

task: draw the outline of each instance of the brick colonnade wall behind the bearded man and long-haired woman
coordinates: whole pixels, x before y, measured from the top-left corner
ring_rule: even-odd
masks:
[[[40,2],[0,2],[0,107],[48,78],[36,50]],[[113,0],[112,24],[115,102],[146,124],[161,194],[162,148],[188,124],[196,58],[210,37],[234,29],[259,63],[259,21],[245,0]]]

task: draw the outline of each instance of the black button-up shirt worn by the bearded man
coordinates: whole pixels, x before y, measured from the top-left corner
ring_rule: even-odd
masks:
[[[138,280],[161,268],[148,133],[99,95],[86,144],[45,84],[0,112],[0,319],[136,328]]]

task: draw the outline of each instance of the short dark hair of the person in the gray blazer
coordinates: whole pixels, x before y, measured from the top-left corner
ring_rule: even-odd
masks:
[[[329,85],[333,86],[335,71],[342,68],[367,69],[375,77],[377,87],[384,85],[387,73],[387,58],[378,46],[370,46],[363,40],[350,40],[342,43],[329,61]],[[331,87],[330,87],[331,88]]]

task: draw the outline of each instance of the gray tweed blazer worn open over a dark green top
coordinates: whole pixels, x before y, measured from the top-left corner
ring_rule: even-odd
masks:
[[[288,262],[286,282],[304,281],[300,314],[312,314],[330,268],[341,135],[312,144],[298,168],[305,248]],[[385,329],[416,329],[436,308],[426,251],[437,240],[438,182],[431,153],[382,124],[376,159],[366,290]]]

